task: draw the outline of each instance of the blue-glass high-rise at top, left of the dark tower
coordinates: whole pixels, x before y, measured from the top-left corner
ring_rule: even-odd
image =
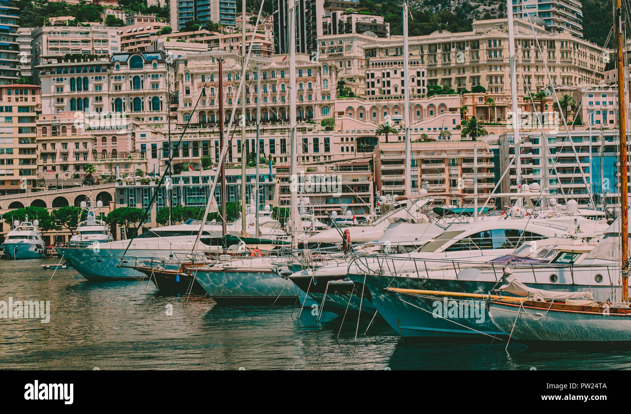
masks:
[[[222,26],[234,26],[237,19],[236,0],[172,0],[171,25],[174,32],[182,32],[187,21],[214,21]]]

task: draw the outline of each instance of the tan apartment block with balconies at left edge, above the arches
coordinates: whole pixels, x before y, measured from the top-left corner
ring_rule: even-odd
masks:
[[[37,187],[35,120],[42,101],[37,85],[0,85],[0,194]]]

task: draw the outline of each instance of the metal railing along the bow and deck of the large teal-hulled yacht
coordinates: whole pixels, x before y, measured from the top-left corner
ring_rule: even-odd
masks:
[[[429,265],[429,266],[428,266]],[[533,273],[535,283],[544,283],[537,280],[537,271],[550,269],[569,269],[572,284],[574,284],[574,274],[582,269],[593,269],[594,264],[574,264],[574,263],[506,263],[493,260],[474,261],[466,258],[459,259],[427,259],[422,257],[392,256],[386,254],[365,254],[353,257],[348,262],[347,273],[371,276],[407,276],[411,278],[431,278],[430,271],[453,269],[456,280],[459,273],[466,268],[480,268],[483,271],[492,271],[495,281],[501,281],[505,269],[512,271],[517,269],[529,269]],[[606,271],[613,280],[613,274],[620,270],[619,264],[598,264],[598,269]],[[546,281],[545,283],[548,283]]]

